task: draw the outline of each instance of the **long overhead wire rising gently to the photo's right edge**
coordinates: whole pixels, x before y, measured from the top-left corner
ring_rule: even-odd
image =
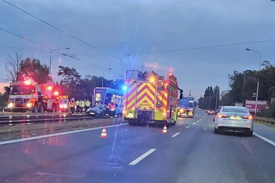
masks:
[[[205,49],[205,48],[218,48],[218,47],[237,46],[237,45],[244,45],[244,44],[272,42],[272,41],[275,41],[275,40],[273,39],[273,40],[254,41],[254,42],[244,42],[244,43],[225,44],[225,45],[215,45],[215,46],[203,46],[203,47],[183,48],[183,49],[174,49],[174,50],[163,50],[163,51],[154,51],[154,52],[132,53],[132,55],[152,54],[152,53],[165,53],[165,52],[176,52],[176,51],[196,50],[196,49]]]

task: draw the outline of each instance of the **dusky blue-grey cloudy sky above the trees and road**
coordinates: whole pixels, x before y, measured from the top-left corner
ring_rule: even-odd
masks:
[[[49,66],[50,51],[62,49],[51,54],[55,81],[60,65],[82,77],[113,80],[123,79],[128,69],[172,71],[184,96],[191,90],[198,99],[208,86],[229,89],[234,70],[259,69],[260,55],[245,48],[275,64],[275,2],[268,0],[5,1],[0,0],[0,81],[15,51]]]

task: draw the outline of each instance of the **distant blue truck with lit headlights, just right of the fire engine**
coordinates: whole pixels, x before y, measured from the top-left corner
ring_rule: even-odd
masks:
[[[178,104],[178,116],[179,117],[194,117],[194,108],[196,102],[194,97],[183,97],[179,100]]]

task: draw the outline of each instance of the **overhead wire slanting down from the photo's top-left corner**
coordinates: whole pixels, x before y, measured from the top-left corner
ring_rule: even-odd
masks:
[[[20,10],[20,11],[22,11],[22,12],[28,14],[28,15],[30,15],[31,17],[33,17],[33,18],[35,18],[35,19],[37,19],[37,20],[39,20],[39,21],[41,21],[41,22],[43,22],[43,23],[49,25],[50,27],[52,27],[52,28],[54,28],[54,29],[57,29],[57,30],[60,31],[62,34],[66,34],[66,35],[70,36],[71,38],[76,39],[76,40],[80,41],[81,43],[84,43],[84,44],[86,44],[86,45],[88,45],[88,46],[90,46],[90,47],[92,47],[92,48],[94,48],[94,49],[96,49],[96,50],[98,50],[98,51],[100,51],[100,52],[102,52],[102,53],[108,55],[108,56],[114,57],[113,55],[108,54],[108,53],[106,53],[105,51],[103,51],[103,50],[101,50],[101,49],[99,49],[99,48],[97,48],[97,47],[95,47],[95,46],[93,46],[93,45],[91,45],[91,44],[89,44],[89,43],[87,43],[87,42],[85,42],[85,41],[82,41],[82,40],[76,38],[76,37],[73,36],[73,35],[70,35],[70,34],[66,33],[66,32],[63,31],[62,29],[60,29],[60,28],[58,28],[58,27],[56,27],[56,26],[54,26],[54,25],[52,25],[52,24],[50,24],[50,23],[48,23],[48,22],[46,22],[46,21],[44,21],[44,20],[42,20],[42,19],[40,19],[40,18],[34,16],[34,15],[32,15],[31,13],[28,13],[28,12],[26,12],[26,11],[20,9],[20,8],[18,8],[17,6],[15,6],[15,5],[13,5],[13,4],[11,4],[11,3],[5,1],[5,0],[2,0],[2,1],[5,2],[5,3],[7,3],[7,4],[9,4],[10,6],[16,8],[16,9],[18,9],[18,10]],[[118,59],[117,57],[114,57],[114,58]],[[118,60],[119,60],[119,59],[118,59]]]

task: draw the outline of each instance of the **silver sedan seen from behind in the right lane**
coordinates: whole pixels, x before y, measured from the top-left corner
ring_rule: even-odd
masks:
[[[223,106],[215,117],[214,133],[221,131],[239,132],[247,136],[253,135],[254,119],[248,108]]]

